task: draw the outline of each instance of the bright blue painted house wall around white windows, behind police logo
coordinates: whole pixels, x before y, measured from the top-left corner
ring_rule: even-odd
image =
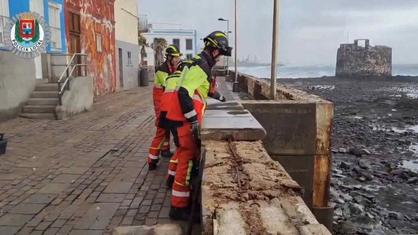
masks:
[[[51,46],[46,48],[47,53],[66,53],[67,45],[65,40],[65,19],[64,19],[64,0],[43,0],[43,17],[49,23],[48,1],[61,4],[60,23],[61,23],[61,51],[51,51]],[[9,15],[14,15],[29,11],[29,0],[9,0]],[[5,47],[0,47],[0,50],[8,50]]]

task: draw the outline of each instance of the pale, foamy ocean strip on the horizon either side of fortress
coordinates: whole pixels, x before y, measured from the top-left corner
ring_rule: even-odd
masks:
[[[229,67],[234,70],[234,67]],[[271,66],[238,66],[238,72],[255,77],[270,78]],[[392,75],[418,76],[418,64],[393,64]],[[334,66],[278,66],[277,78],[335,76]]]

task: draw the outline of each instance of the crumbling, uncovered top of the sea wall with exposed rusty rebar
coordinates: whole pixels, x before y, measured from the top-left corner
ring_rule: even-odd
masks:
[[[204,234],[300,235],[299,226],[319,224],[301,187],[260,140],[202,140],[202,158]]]

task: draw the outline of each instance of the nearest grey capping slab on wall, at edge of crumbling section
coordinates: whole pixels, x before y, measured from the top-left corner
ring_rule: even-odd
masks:
[[[252,116],[204,117],[201,127],[202,139],[261,140],[265,134],[264,128]]]

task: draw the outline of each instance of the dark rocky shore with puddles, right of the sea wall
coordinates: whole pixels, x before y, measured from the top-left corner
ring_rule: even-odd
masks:
[[[418,77],[278,82],[334,102],[334,234],[418,233]]]

